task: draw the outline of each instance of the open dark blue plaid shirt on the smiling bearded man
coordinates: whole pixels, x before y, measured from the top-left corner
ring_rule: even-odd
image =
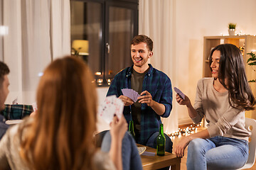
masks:
[[[132,67],[123,69],[114,77],[107,96],[116,95],[119,97],[122,95],[121,89],[131,89]],[[143,80],[142,91],[149,91],[154,101],[164,104],[166,109],[161,117],[167,118],[172,108],[171,80],[164,72],[154,69],[151,64],[149,64],[149,67],[150,69]],[[146,145],[149,137],[154,132],[159,132],[161,119],[160,115],[156,114],[146,103],[142,103],[141,109],[141,134],[137,142]],[[124,106],[124,118],[126,118],[128,124],[129,120],[132,120],[130,106]]]

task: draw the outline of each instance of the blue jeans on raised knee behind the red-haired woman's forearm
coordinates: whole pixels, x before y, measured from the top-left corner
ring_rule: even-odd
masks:
[[[110,131],[108,131],[103,137],[101,150],[103,152],[109,152],[110,145],[111,135]],[[129,135],[128,132],[126,132],[122,140],[122,166],[124,170],[142,170],[142,159],[139,156],[137,145],[132,135]]]

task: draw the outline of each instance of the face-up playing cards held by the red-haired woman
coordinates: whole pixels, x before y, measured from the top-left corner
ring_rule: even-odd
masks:
[[[117,118],[122,118],[122,112],[124,110],[124,103],[117,96],[107,96],[105,101],[98,107],[97,114],[105,120],[107,123],[111,123],[114,114]]]

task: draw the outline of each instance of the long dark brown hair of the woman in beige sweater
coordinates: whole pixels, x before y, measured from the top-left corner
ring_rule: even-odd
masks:
[[[232,44],[218,45],[210,52],[210,64],[215,50],[220,51],[218,79],[225,89],[228,89],[230,106],[243,108],[246,111],[254,110],[255,97],[247,81],[240,50]],[[228,82],[227,85],[225,79]]]

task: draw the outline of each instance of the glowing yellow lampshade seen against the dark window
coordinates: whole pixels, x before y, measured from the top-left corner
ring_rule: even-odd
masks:
[[[89,55],[88,40],[73,40],[72,47],[79,52],[79,55]]]

